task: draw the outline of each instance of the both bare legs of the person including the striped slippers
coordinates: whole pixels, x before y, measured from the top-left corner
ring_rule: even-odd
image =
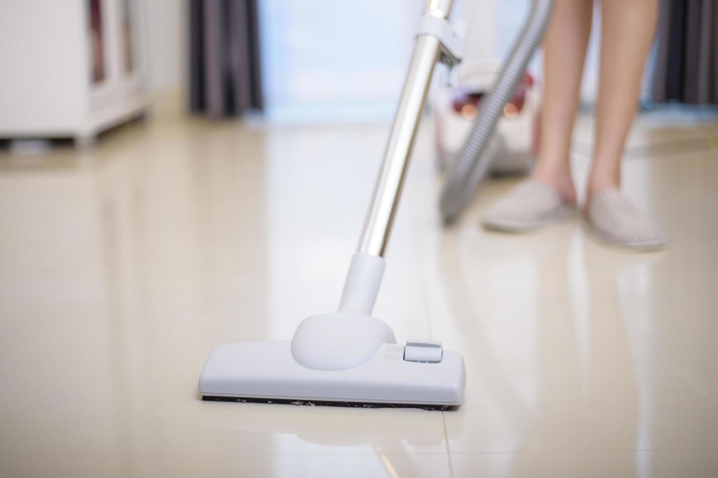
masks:
[[[591,27],[591,0],[555,0],[546,33],[544,106],[532,181],[485,210],[485,228],[526,232],[570,217],[576,200],[569,151]],[[641,74],[656,30],[658,0],[602,0],[596,144],[586,215],[600,240],[633,250],[666,243],[661,228],[621,195],[620,160],[635,116]]]

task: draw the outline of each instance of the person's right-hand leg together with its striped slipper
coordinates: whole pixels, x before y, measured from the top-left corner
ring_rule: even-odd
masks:
[[[600,240],[636,250],[666,244],[658,224],[618,190],[623,146],[657,20],[658,0],[602,0],[596,141],[585,211]]]

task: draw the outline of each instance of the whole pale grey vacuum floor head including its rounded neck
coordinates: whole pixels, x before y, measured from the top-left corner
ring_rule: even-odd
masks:
[[[292,340],[216,347],[200,375],[205,400],[444,409],[464,395],[464,359],[441,342],[397,345],[370,317],[384,261],[355,254],[339,311],[304,319]]]

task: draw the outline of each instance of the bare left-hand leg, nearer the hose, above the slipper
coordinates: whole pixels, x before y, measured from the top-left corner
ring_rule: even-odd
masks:
[[[576,200],[569,151],[592,11],[592,0],[556,0],[544,38],[544,98],[533,179],[549,184],[566,202]]]

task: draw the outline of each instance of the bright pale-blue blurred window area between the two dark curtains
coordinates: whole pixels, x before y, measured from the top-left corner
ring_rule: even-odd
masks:
[[[467,58],[503,58],[530,5],[529,0],[455,1],[452,18],[466,24]],[[260,1],[269,115],[307,121],[391,118],[423,6],[423,0]]]

